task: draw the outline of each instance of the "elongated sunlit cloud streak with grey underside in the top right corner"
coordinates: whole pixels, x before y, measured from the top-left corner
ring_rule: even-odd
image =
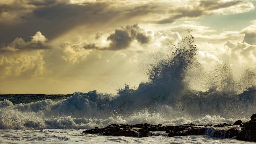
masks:
[[[212,14],[244,13],[253,10],[255,6],[249,1],[223,1],[223,0],[201,0],[187,1],[184,5],[171,7],[168,10],[170,16],[165,16],[156,23],[173,23],[182,18],[198,18]]]

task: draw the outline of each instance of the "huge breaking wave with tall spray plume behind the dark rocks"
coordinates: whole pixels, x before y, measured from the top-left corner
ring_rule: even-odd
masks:
[[[117,95],[94,90],[75,92],[59,101],[0,101],[0,129],[91,129],[116,123],[205,125],[247,121],[255,113],[256,86],[239,93],[230,76],[222,80],[224,87],[212,85],[205,92],[188,88],[188,71],[197,63],[190,33],[170,51],[170,57],[151,69],[148,82],[137,89],[125,85]]]

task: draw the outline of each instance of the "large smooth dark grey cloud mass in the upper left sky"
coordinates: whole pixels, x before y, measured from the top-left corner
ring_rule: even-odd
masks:
[[[101,24],[111,20],[117,13],[106,10],[108,3],[95,2],[83,5],[65,3],[63,1],[30,1],[36,6],[31,12],[24,12],[17,19],[0,22],[0,43],[9,43],[16,37],[29,39],[29,36],[41,31],[49,38],[55,38],[67,30],[81,24]],[[25,6],[16,4],[2,5],[8,10],[19,14],[19,9]],[[3,10],[1,10],[3,11]],[[16,22],[18,21],[18,22]]]

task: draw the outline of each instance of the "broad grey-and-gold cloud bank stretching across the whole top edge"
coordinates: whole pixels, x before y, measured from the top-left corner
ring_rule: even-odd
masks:
[[[26,39],[37,31],[51,40],[78,26],[87,26],[90,31],[96,31],[113,25],[173,23],[184,18],[244,13],[253,9],[254,5],[249,0],[4,1],[0,3],[0,43],[9,43],[16,37]],[[144,42],[146,39],[140,40]]]

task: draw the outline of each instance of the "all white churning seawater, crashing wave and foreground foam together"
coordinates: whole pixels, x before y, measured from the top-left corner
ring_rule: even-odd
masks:
[[[250,143],[209,135],[134,138],[81,133],[110,124],[233,124],[249,121],[256,113],[256,86],[241,88],[232,75],[223,73],[221,85],[213,83],[207,91],[189,89],[190,70],[198,66],[190,33],[170,47],[170,53],[152,67],[148,82],[137,89],[125,85],[116,95],[94,90],[61,100],[0,101],[0,143]]]

